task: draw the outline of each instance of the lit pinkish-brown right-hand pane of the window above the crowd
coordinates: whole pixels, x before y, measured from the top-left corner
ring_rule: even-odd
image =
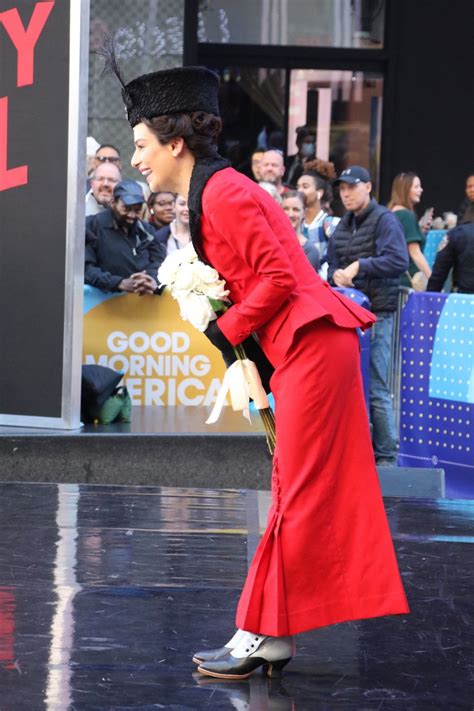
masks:
[[[316,156],[368,168],[375,190],[380,165],[383,79],[366,72],[295,69],[290,74],[288,155],[297,153],[296,129],[316,133]]]

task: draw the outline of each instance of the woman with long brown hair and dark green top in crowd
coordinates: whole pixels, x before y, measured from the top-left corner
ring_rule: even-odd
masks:
[[[420,202],[422,193],[421,181],[416,173],[399,173],[392,183],[392,194],[388,203],[388,208],[400,220],[410,256],[408,271],[402,276],[401,285],[416,291],[424,291],[431,276],[431,267],[426,261],[423,249],[426,244],[426,232],[433,223],[433,208],[426,210],[420,226],[415,206]]]

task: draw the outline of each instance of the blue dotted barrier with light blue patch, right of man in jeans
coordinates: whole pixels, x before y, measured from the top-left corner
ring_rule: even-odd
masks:
[[[402,466],[443,467],[474,498],[474,296],[414,293],[400,324]]]

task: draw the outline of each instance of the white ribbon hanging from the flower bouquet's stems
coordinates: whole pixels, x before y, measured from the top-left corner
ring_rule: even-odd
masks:
[[[225,404],[227,393],[230,393],[232,409],[241,411],[243,416],[250,420],[249,400],[252,398],[257,410],[268,407],[267,394],[260,380],[257,366],[251,360],[236,360],[227,368],[221,388],[212,412],[206,420],[206,425],[217,422]]]

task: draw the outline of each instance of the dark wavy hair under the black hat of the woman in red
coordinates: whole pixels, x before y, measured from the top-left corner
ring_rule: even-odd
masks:
[[[193,111],[190,114],[169,114],[152,119],[143,119],[162,145],[173,138],[184,142],[195,158],[209,158],[217,154],[217,140],[222,120],[214,114]]]

